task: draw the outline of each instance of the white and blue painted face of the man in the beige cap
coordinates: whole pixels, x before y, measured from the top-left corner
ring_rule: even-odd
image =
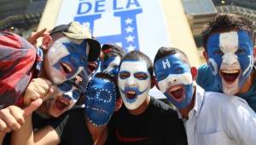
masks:
[[[51,45],[44,58],[44,70],[55,84],[77,76],[87,66],[89,45],[59,38]]]

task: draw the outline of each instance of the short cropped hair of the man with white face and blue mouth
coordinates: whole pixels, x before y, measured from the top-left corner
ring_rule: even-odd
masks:
[[[153,64],[152,61],[150,60],[150,58],[143,54],[143,52],[138,51],[138,50],[133,50],[131,52],[129,52],[128,54],[125,55],[125,57],[123,58],[123,60],[120,62],[119,67],[122,65],[122,62],[124,60],[135,60],[135,61],[145,61],[146,64],[148,65],[148,72],[150,74],[150,77],[153,78]]]

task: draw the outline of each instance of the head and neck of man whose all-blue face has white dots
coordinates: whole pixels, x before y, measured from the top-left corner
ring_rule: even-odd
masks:
[[[107,142],[108,121],[120,107],[119,90],[115,78],[108,73],[96,73],[90,80],[84,101],[85,122],[91,144]],[[107,143],[108,144],[108,143]]]

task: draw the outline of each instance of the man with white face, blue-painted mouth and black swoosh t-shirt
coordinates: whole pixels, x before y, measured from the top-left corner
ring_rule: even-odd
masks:
[[[154,76],[147,55],[140,51],[125,55],[119,66],[118,86],[125,105],[113,113],[109,144],[187,144],[177,113],[148,95]]]

